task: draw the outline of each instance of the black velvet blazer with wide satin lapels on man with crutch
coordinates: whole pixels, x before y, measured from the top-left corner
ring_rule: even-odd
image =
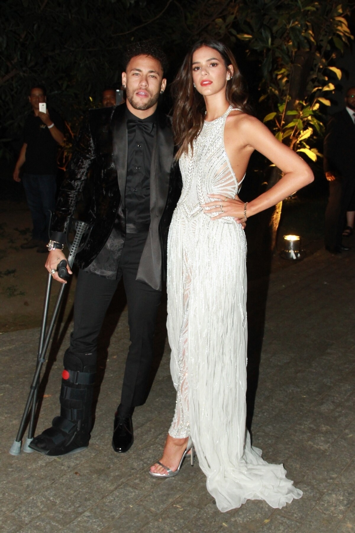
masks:
[[[91,169],[93,194],[90,207],[81,218],[93,224],[93,229],[85,248],[77,254],[76,262],[80,268],[86,268],[100,252],[118,212],[120,219],[125,220],[128,150],[125,108],[122,104],[89,111],[52,217],[51,238],[63,241],[68,217],[75,212],[79,193]],[[165,278],[169,224],[181,185],[179,166],[174,161],[170,120],[159,114],[151,163],[151,224],[137,273],[138,280],[155,289],[161,289],[162,278]],[[122,247],[125,233],[123,224]]]

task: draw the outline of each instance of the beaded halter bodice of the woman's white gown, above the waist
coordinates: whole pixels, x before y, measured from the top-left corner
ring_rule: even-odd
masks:
[[[234,198],[240,188],[241,182],[238,184],[236,180],[224,144],[226,118],[233,109],[229,106],[221,117],[211,122],[205,121],[193,143],[193,153],[189,147],[188,154],[180,157],[183,190],[178,206],[187,219],[202,213],[201,204],[212,200],[208,194]],[[230,217],[223,220],[227,222],[227,218]]]

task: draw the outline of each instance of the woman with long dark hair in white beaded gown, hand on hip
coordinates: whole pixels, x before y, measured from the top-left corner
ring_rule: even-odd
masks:
[[[313,180],[306,163],[248,114],[235,59],[196,43],[175,80],[173,127],[183,190],[168,240],[168,335],[175,416],[150,474],[176,475],[196,449],[220,511],[263,499],[282,507],[302,492],[268,464],[245,427],[246,243],[242,223]],[[237,196],[253,150],[283,171],[269,191]],[[191,449],[191,450],[190,450]],[[192,455],[193,457],[193,455]]]

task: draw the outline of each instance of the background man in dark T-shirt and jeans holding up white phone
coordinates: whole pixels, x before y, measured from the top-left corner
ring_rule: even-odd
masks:
[[[28,100],[32,112],[24,123],[23,145],[13,173],[19,182],[23,170],[22,184],[33,223],[32,238],[21,248],[47,252],[49,220],[55,207],[56,157],[64,140],[64,124],[54,110],[49,114],[44,86],[32,87]]]

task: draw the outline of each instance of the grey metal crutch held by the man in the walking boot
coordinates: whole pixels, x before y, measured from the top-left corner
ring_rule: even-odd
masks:
[[[69,243],[68,236],[69,236],[69,232],[71,229],[75,230],[75,237],[72,243]],[[90,230],[91,230],[91,227],[86,222],[81,222],[79,220],[73,220],[71,218],[69,219],[68,224],[67,224],[67,244],[69,248],[68,264],[69,264],[70,269],[72,268],[76,254],[80,252],[82,248],[84,248],[84,246],[86,245],[87,239],[90,235]],[[65,277],[68,276],[66,266],[67,266],[67,261],[65,260],[62,260],[57,265],[58,276],[62,279],[65,279]],[[66,284],[62,284],[60,288],[59,294],[57,296],[57,301],[54,306],[51,322],[49,323],[49,327],[46,332],[49,297],[51,295],[51,286],[52,286],[52,275],[48,273],[46,293],[45,293],[45,299],[44,299],[43,316],[42,316],[42,325],[41,325],[40,334],[39,334],[36,370],[35,370],[34,377],[32,379],[32,384],[30,386],[30,392],[27,398],[26,406],[24,408],[23,415],[21,418],[19,431],[16,435],[16,439],[13,442],[13,445],[11,446],[9,450],[9,453],[11,455],[20,454],[24,427],[26,425],[26,420],[27,420],[28,413],[29,413],[31,406],[32,406],[32,409],[31,409],[31,417],[30,417],[29,430],[28,430],[28,438],[26,440],[25,445],[23,446],[23,451],[26,451],[27,453],[31,453],[32,451],[34,451],[31,448],[29,448],[29,444],[34,437],[34,429],[35,429],[34,425],[35,425],[37,393],[38,393],[40,372],[42,370],[43,363],[45,362],[46,351],[48,348],[49,341],[51,340],[51,335],[52,335],[53,328],[55,325],[55,320],[57,318],[57,314],[59,312],[60,305],[63,299],[65,285]]]

